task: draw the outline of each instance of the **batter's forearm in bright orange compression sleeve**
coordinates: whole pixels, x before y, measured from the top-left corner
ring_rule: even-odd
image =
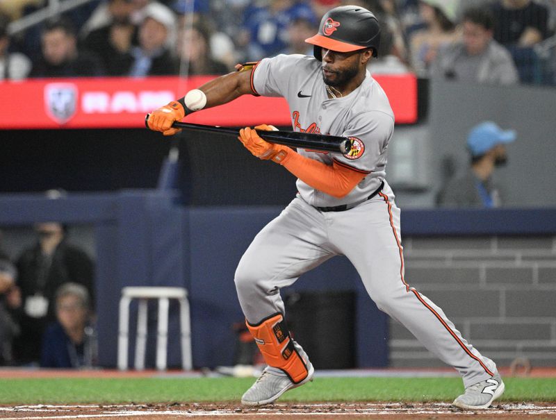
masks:
[[[341,199],[361,182],[366,174],[336,165],[325,165],[318,160],[301,156],[295,151],[281,163],[293,175],[300,178],[304,183],[325,194]]]

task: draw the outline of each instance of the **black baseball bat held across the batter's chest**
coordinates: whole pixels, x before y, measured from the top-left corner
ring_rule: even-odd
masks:
[[[145,126],[150,114],[145,117]],[[188,122],[174,121],[174,128],[189,128],[199,131],[213,131],[215,133],[239,135],[234,128],[207,126],[204,124],[192,124]],[[300,133],[297,131],[265,131],[256,130],[256,133],[270,143],[284,144],[284,146],[299,147],[300,149],[311,149],[318,151],[332,151],[335,153],[349,153],[352,149],[352,140],[339,135],[325,135],[316,133]]]

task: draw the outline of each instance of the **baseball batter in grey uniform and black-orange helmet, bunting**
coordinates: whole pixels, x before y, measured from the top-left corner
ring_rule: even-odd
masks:
[[[400,209],[385,180],[394,116],[367,71],[377,56],[380,30],[359,6],[329,10],[306,40],[313,56],[279,55],[227,74],[155,110],[149,128],[172,135],[190,112],[243,94],[284,96],[295,131],[351,137],[349,153],[322,153],[265,142],[249,127],[239,140],[256,157],[297,176],[298,194],[256,235],[236,270],[238,299],[247,327],[268,364],[241,401],[263,405],[311,380],[309,356],[284,319],[280,289],[334,255],[350,259],[377,306],[400,321],[464,380],[459,408],[488,408],[504,391],[492,360],[461,337],[432,301],[404,278]],[[259,129],[272,129],[258,126]]]

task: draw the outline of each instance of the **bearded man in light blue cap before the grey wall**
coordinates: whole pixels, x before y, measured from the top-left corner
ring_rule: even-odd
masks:
[[[507,163],[505,145],[516,139],[513,130],[502,130],[492,121],[473,127],[467,137],[471,167],[441,190],[438,203],[446,207],[493,208],[501,204],[500,193],[492,182],[496,167]]]

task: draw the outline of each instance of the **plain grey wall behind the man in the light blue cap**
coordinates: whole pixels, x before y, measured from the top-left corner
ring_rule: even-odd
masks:
[[[501,87],[431,81],[427,119],[398,126],[389,151],[387,179],[404,208],[430,208],[443,184],[443,165],[451,160],[456,176],[468,167],[468,131],[484,120],[517,131],[507,146],[508,165],[493,179],[506,207],[556,205],[556,89]]]

